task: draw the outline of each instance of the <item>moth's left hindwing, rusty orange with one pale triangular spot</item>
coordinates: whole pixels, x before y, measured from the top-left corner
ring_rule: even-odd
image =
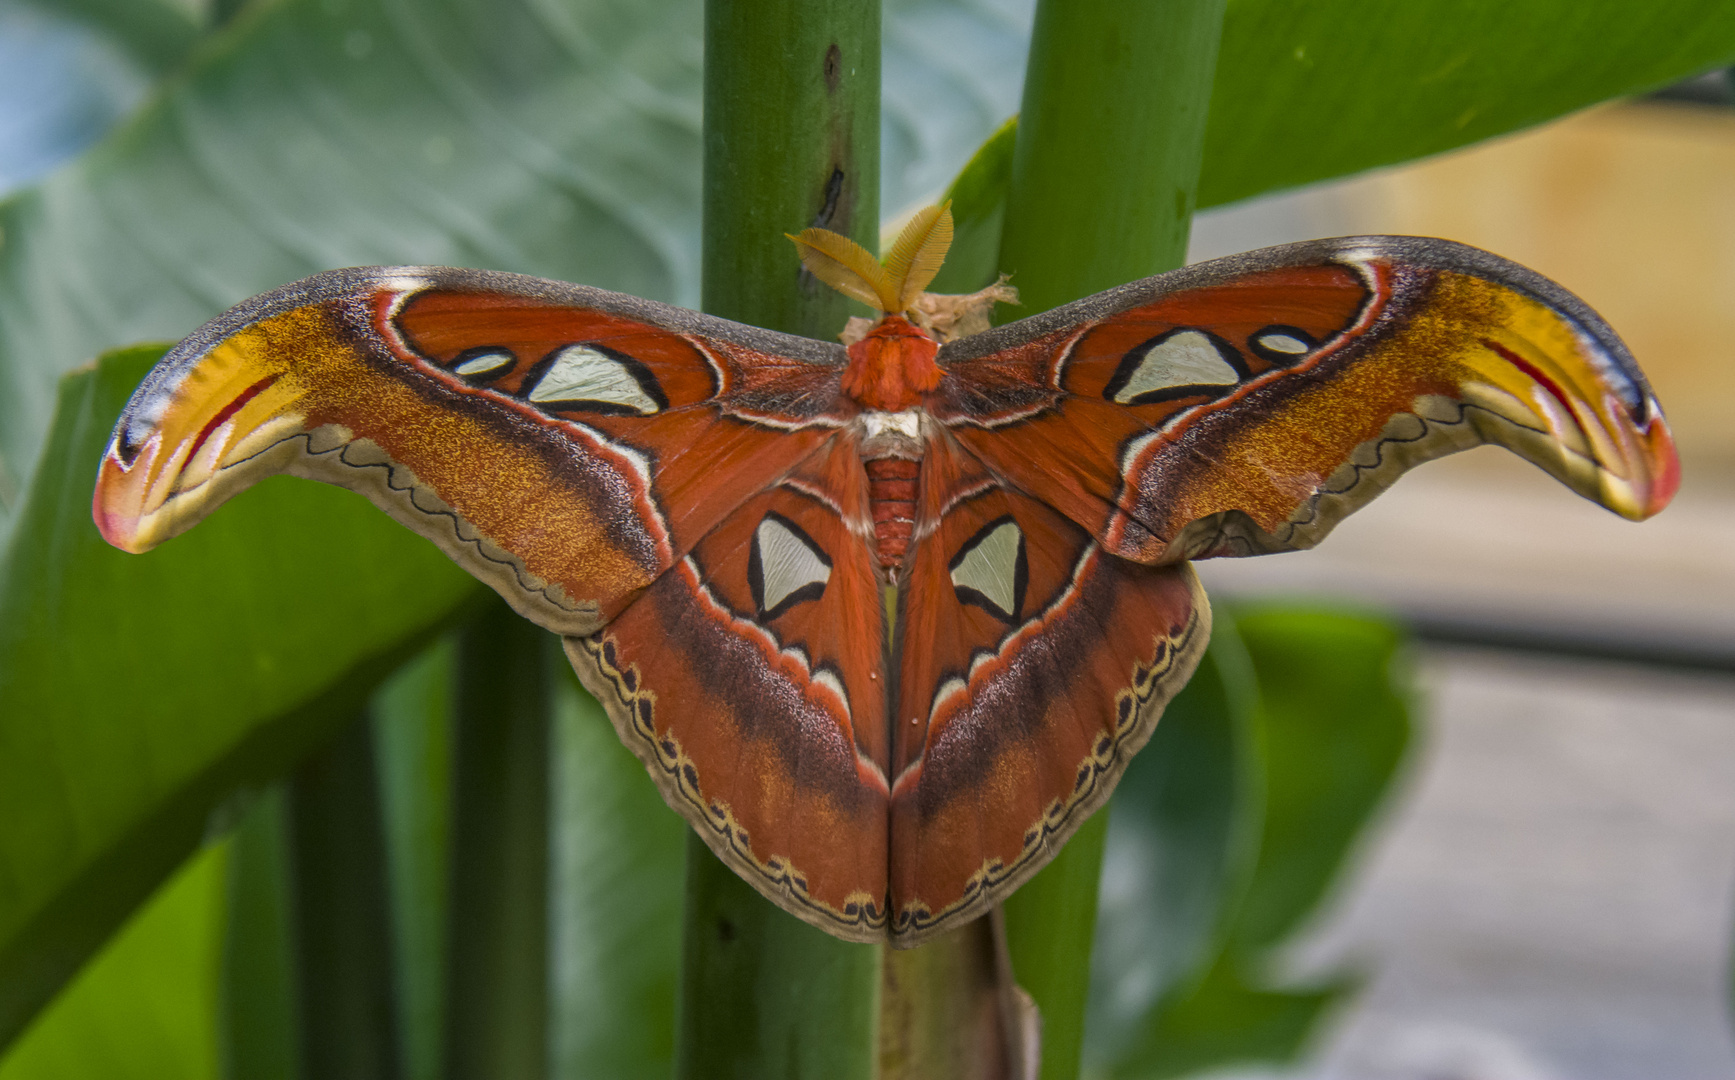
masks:
[[[567,655],[723,861],[807,922],[883,941],[888,635],[854,477],[841,438]]]

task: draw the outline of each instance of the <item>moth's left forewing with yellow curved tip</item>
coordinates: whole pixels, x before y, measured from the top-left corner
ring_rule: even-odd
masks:
[[[128,550],[271,472],[368,495],[527,618],[595,632],[831,439],[840,349],[576,285],[333,271],[177,346],[104,457]]]

